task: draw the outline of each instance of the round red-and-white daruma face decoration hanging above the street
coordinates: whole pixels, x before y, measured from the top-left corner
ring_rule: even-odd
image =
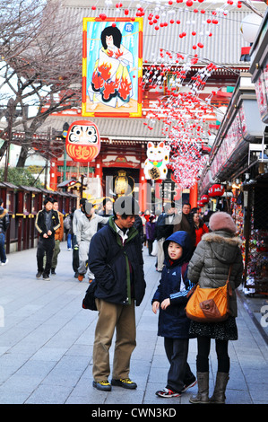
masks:
[[[74,121],[66,136],[66,152],[79,163],[89,163],[99,154],[98,127],[88,120]]]

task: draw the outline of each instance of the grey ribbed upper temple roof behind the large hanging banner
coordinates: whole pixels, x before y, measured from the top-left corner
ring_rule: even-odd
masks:
[[[86,4],[85,4],[86,3]],[[240,31],[242,20],[252,13],[246,6],[231,7],[222,9],[226,15],[217,16],[218,24],[209,24],[206,22],[207,19],[213,18],[212,11],[220,8],[221,5],[226,2],[204,2],[202,4],[195,3],[193,7],[187,7],[186,4],[173,2],[172,6],[159,3],[160,8],[160,20],[159,22],[167,21],[171,19],[175,22],[167,27],[160,28],[160,31],[155,31],[155,25],[148,24],[148,16],[150,13],[155,14],[156,4],[150,4],[150,2],[140,2],[144,8],[143,16],[143,61],[147,60],[149,63],[158,61],[160,48],[181,52],[184,54],[194,54],[193,43],[203,41],[203,50],[198,54],[205,57],[219,65],[238,66],[241,65],[241,47],[247,47],[249,44],[243,40],[242,33]],[[253,2],[256,4],[256,2]],[[73,4],[73,5],[72,5]],[[125,17],[124,10],[118,10],[114,6],[100,7],[100,2],[97,2],[96,10],[91,10],[91,5],[96,2],[84,2],[82,0],[65,0],[65,21],[77,23],[77,31],[82,31],[82,18],[83,17],[99,17],[99,13],[105,13],[108,17]],[[124,5],[127,2],[124,3]],[[134,2],[132,2],[134,4]],[[144,5],[145,4],[145,5]],[[234,2],[235,4],[235,2]],[[267,5],[264,3],[257,3],[257,9],[264,11]],[[198,10],[197,13],[194,12]],[[136,7],[130,6],[129,16],[134,16]],[[201,13],[201,10],[205,11]],[[180,21],[177,24],[177,21]],[[192,31],[196,32],[195,39],[192,35]],[[205,31],[212,31],[212,37],[208,37]],[[186,36],[183,38],[179,37],[179,34],[186,32]],[[197,40],[197,37],[201,38]],[[76,37],[75,37],[76,38]],[[78,38],[79,39],[79,38]],[[193,41],[194,40],[194,41]],[[72,48],[82,48],[82,36],[79,45],[73,45]]]

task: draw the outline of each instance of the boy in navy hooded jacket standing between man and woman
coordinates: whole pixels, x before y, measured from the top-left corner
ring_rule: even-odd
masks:
[[[187,278],[187,263],[191,258],[191,239],[186,232],[171,234],[164,242],[165,267],[160,285],[152,298],[152,311],[159,314],[158,335],[164,337],[169,359],[166,388],[156,391],[160,397],[179,397],[193,387],[195,375],[187,363],[190,320],[185,307],[189,290],[194,286]]]

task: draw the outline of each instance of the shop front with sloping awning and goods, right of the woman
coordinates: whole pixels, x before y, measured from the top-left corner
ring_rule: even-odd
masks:
[[[245,293],[268,293],[264,130],[251,75],[241,74],[203,171],[199,194],[209,193],[215,183],[225,188],[223,196],[212,201],[214,210],[229,212],[238,226],[243,240]]]

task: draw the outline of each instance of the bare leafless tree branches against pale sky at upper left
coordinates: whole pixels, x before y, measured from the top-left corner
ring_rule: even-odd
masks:
[[[22,111],[12,127],[23,128],[24,157],[32,146],[33,135],[51,113],[81,104],[80,90],[71,88],[81,82],[81,52],[66,48],[70,37],[75,42],[73,34],[77,31],[65,27],[60,5],[60,0],[2,0],[1,3],[0,116],[6,117],[7,127],[7,101],[12,97],[14,105]],[[29,107],[37,112],[27,114]],[[4,136],[4,131],[0,136]],[[5,144],[0,148],[0,160]]]

